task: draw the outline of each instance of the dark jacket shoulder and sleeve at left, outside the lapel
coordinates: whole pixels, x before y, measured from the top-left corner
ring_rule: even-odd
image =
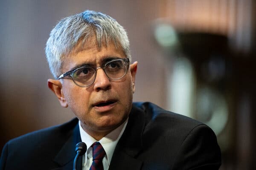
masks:
[[[10,140],[3,147],[0,170],[55,167],[55,156],[67,140],[74,139],[72,136],[76,136],[77,125],[78,119],[73,119],[62,125],[37,130]]]

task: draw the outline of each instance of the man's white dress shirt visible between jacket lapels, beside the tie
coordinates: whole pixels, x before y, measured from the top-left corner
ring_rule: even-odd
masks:
[[[102,139],[99,140],[99,143],[102,145],[106,152],[106,155],[102,160],[104,170],[108,170],[109,168],[116,144],[122,136],[122,133],[125,130],[127,122],[128,119],[126,119],[125,122],[122,123],[122,125],[117,127],[111,133],[108,133],[108,135],[104,136]],[[82,170],[90,170],[90,166],[93,163],[93,148],[91,146],[94,142],[97,142],[97,140],[84,131],[84,129],[81,127],[80,121],[79,130],[81,141],[84,142],[87,146],[87,151],[83,156]]]

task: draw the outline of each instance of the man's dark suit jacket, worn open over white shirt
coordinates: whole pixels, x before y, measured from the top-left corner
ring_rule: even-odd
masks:
[[[78,119],[20,136],[3,148],[0,170],[72,170],[80,141]],[[145,102],[133,104],[109,170],[217,170],[220,164],[207,125]]]

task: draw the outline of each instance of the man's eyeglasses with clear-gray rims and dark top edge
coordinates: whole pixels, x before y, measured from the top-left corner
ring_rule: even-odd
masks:
[[[125,76],[129,68],[129,59],[120,58],[106,62],[102,67],[93,68],[91,66],[82,66],[61,74],[58,79],[70,76],[73,82],[79,87],[88,87],[96,79],[97,70],[102,68],[107,77],[111,80],[119,80]]]

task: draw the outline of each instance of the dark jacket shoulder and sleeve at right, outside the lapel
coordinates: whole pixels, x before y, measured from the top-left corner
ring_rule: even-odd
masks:
[[[217,169],[220,166],[220,148],[210,127],[150,102],[137,102],[133,106],[138,109],[137,113],[145,114],[142,134],[145,152],[141,158],[148,164],[160,161],[163,169],[175,167],[180,170],[200,166]],[[152,153],[153,156],[148,158]],[[191,161],[193,163],[188,163]]]

